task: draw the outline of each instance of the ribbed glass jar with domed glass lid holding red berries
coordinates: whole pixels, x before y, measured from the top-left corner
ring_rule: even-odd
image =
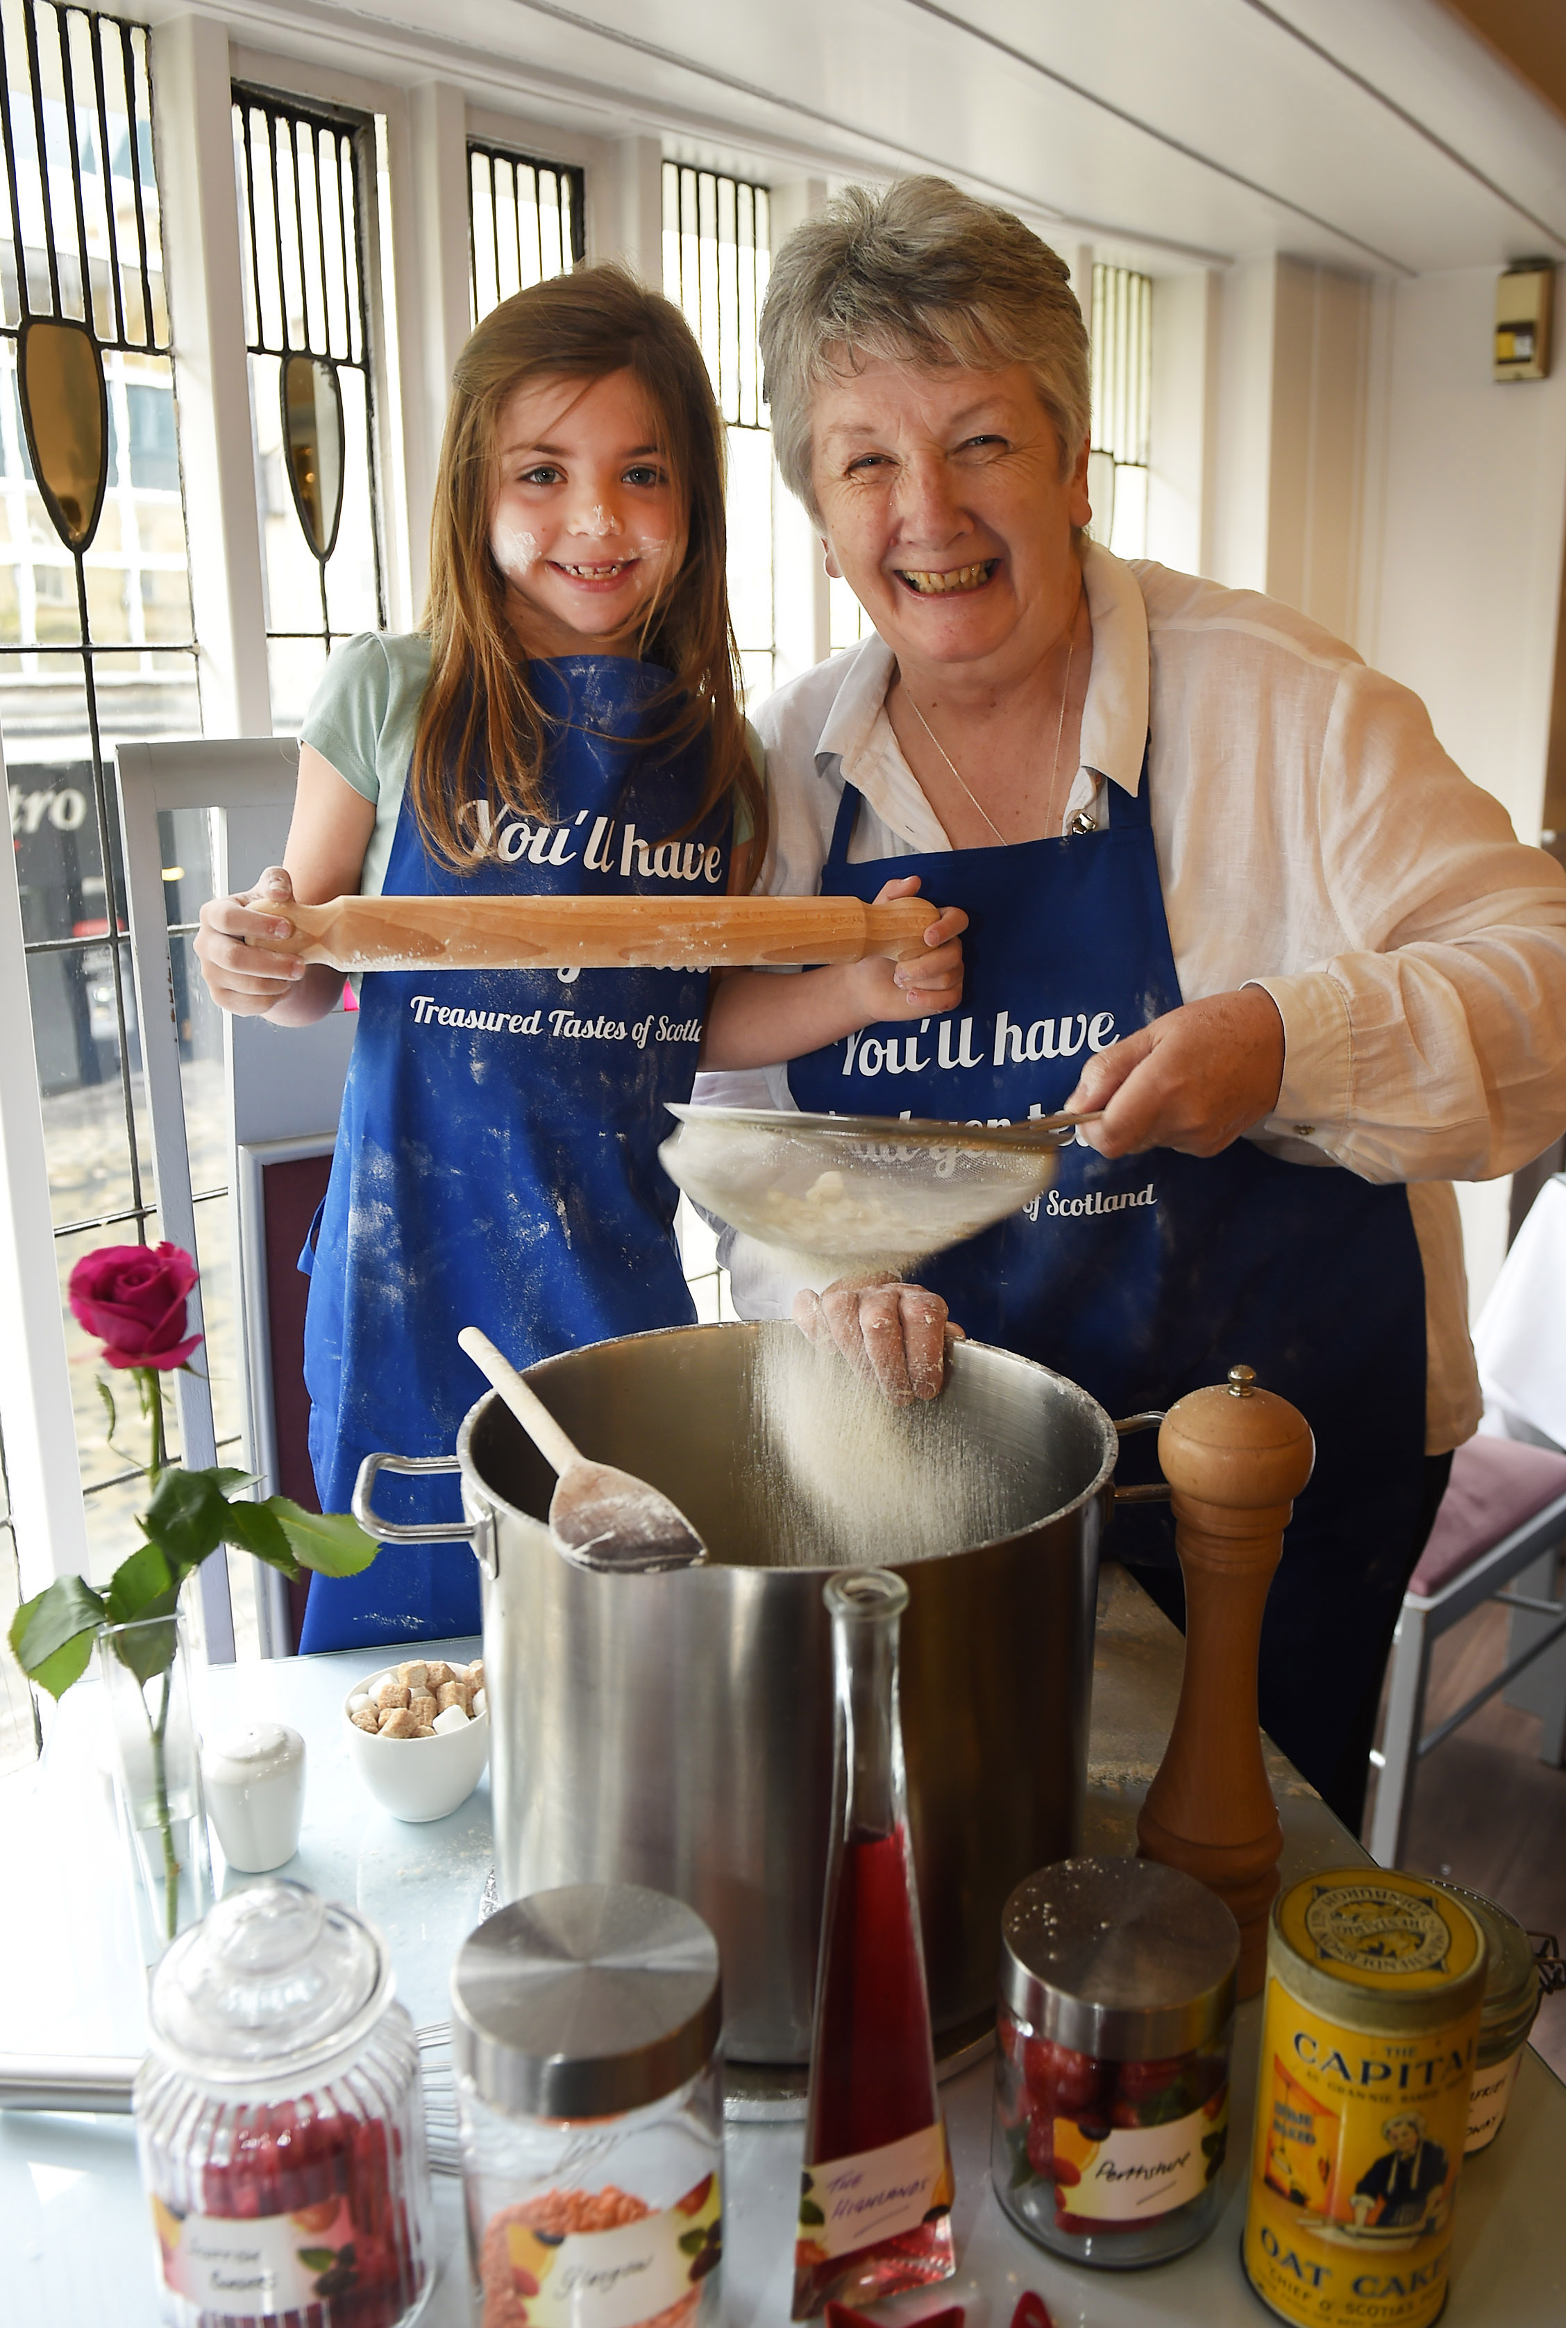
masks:
[[[168,1949],[149,2021],[135,2132],[168,2328],[407,2328],[430,2170],[382,1937],[254,1883]]]

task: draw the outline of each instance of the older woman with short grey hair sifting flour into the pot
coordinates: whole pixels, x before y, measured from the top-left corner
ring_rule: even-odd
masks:
[[[1240,1360],[1301,1406],[1317,1469],[1261,1716],[1357,1825],[1403,1585],[1480,1411],[1447,1183],[1566,1124],[1566,878],[1352,647],[1084,540],[1087,335],[1017,219],[938,179],[849,191],[777,256],[761,342],[784,480],[877,633],[759,715],[763,887],[919,875],[970,920],[956,1010],[828,1043],[770,1096],[1103,1110],[1040,1206],[926,1283],[1110,1413]],[[719,994],[721,1050],[761,1064],[745,1010],[745,982]],[[752,1315],[789,1292],[735,1255]],[[840,1339],[891,1299],[835,1301]],[[1119,1550],[1177,1609],[1166,1516]]]

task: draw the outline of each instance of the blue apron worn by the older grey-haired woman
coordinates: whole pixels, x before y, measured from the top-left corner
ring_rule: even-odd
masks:
[[[821,889],[873,899],[919,873],[926,896],[963,906],[963,1001],[796,1059],[800,1108],[1052,1113],[1091,1052],[1182,1001],[1147,759],[1138,794],[1115,794],[1108,831],[1061,840],[849,864],[856,815],[845,787]],[[1424,1269],[1405,1190],[1287,1164],[1245,1138],[1217,1157],[1159,1148],[1117,1162],[1073,1145],[1028,1213],[919,1278],[968,1334],[1054,1367],[1112,1415],[1170,1406],[1233,1364],[1301,1408],[1317,1464],[1268,1599],[1261,1720],[1329,1783],[1380,1678],[1424,1495]],[[1145,1446],[1126,1443],[1122,1478]],[[1168,1509],[1122,1509],[1112,1550],[1170,1569]]]

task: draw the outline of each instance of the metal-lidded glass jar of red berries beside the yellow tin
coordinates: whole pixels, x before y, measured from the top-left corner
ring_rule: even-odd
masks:
[[[1124,2270],[1212,2230],[1238,1958],[1156,1860],[1059,1860],[1005,1902],[991,2179],[1040,2247]]]

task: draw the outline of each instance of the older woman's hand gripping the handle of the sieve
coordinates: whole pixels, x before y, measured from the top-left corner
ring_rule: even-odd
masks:
[[[1070,1110],[1103,1108],[1077,1138],[1103,1157],[1175,1148],[1215,1157],[1277,1106],[1284,1034],[1266,987],[1182,1003],[1082,1069]]]

